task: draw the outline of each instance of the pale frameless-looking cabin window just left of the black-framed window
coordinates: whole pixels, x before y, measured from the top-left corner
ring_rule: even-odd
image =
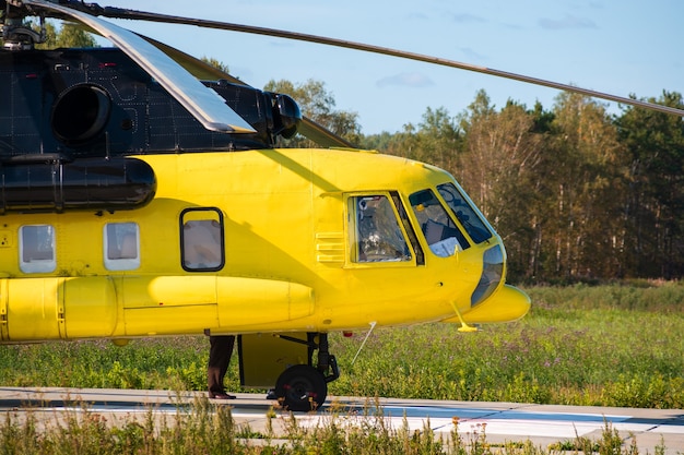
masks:
[[[108,223],[104,228],[105,267],[132,271],[140,267],[140,228],[137,223]]]

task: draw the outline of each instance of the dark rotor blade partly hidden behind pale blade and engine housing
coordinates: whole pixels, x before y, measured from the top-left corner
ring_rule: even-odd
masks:
[[[225,73],[213,67],[205,61],[202,61],[196,57],[192,57],[181,50],[176,49],[175,47],[168,46],[164,43],[157,41],[156,39],[150,38],[144,35],[139,35],[141,38],[150,43],[152,46],[160,49],[162,52],[166,53],[168,57],[174,59],[178,64],[185,68],[190,74],[194,75],[198,79],[203,80],[219,80],[225,79],[228,82],[234,84],[246,85],[245,82],[240,81],[237,77],[232,76],[228,73]],[[346,140],[334,134],[332,131],[327,130],[325,127],[316,123],[314,120],[308,119],[306,117],[302,118],[302,123],[297,128],[297,131],[305,136],[306,139],[316,142],[317,144],[323,147],[350,147],[354,148],[354,145]]]

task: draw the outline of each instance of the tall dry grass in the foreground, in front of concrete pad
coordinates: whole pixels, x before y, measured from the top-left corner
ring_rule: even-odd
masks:
[[[12,411],[0,422],[0,452],[8,455],[639,454],[636,442],[624,442],[609,422],[598,441],[578,436],[575,441],[541,447],[529,440],[492,444],[484,424],[467,434],[459,433],[455,424],[449,434],[443,435],[436,434],[429,422],[421,430],[411,430],[404,419],[399,428],[392,428],[381,414],[365,419],[331,414],[312,427],[300,426],[287,414],[278,416],[269,411],[267,416],[266,431],[259,433],[249,426],[237,424],[231,407],[215,406],[207,398],[161,417],[150,408],[140,419],[125,416],[108,420],[84,404],[47,418],[40,417],[37,409]],[[654,455],[664,453],[664,445],[656,447]]]

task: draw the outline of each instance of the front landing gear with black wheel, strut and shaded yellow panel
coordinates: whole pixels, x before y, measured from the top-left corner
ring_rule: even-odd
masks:
[[[340,378],[327,333],[247,334],[237,342],[240,384],[272,390],[284,409],[318,409],[328,396],[328,383]]]

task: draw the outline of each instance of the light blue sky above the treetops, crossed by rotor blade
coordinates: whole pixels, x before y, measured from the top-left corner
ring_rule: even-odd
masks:
[[[613,95],[684,93],[682,0],[110,0],[101,4],[325,35],[520,73]],[[463,70],[193,26],[115,21],[252,86],[322,81],[365,134],[418,124],[425,110],[462,112],[483,88],[550,109],[558,92]],[[617,112],[615,104],[606,103]]]

